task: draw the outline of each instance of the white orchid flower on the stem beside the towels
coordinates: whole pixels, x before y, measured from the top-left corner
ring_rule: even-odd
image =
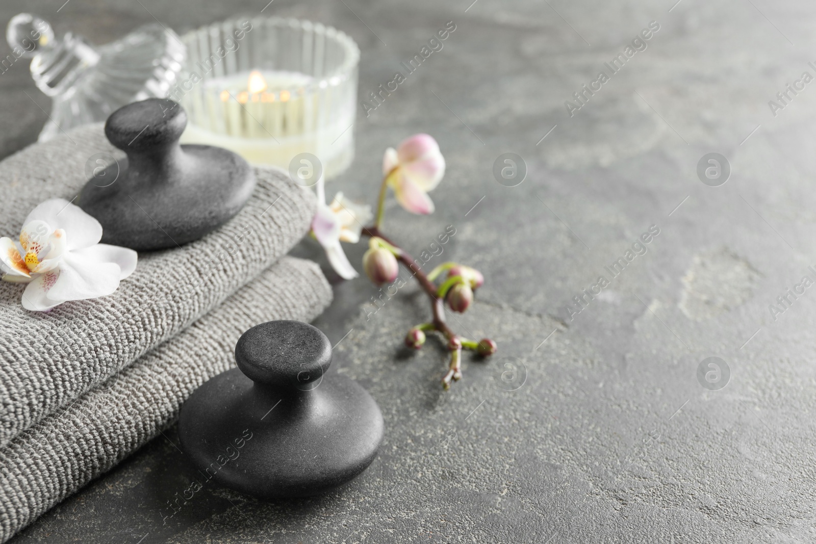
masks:
[[[335,200],[326,206],[326,188],[323,177],[317,180],[317,213],[312,219],[312,233],[329,259],[331,268],[344,280],[351,280],[359,274],[348,262],[348,257],[340,245],[341,241],[356,244],[360,241],[362,226],[374,215],[371,207],[357,204],[343,196],[335,195]]]

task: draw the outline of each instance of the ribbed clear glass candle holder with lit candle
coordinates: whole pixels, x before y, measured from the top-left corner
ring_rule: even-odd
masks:
[[[311,153],[326,179],[351,163],[360,60],[352,38],[320,23],[253,17],[194,30],[182,41],[188,60],[170,98],[187,110],[183,143],[216,145],[284,170]]]

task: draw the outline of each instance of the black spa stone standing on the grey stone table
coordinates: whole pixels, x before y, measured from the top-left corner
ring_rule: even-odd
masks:
[[[359,475],[383,438],[368,392],[326,374],[331,345],[299,321],[255,325],[235,347],[238,368],[184,403],[179,436],[206,479],[259,498],[325,493]]]

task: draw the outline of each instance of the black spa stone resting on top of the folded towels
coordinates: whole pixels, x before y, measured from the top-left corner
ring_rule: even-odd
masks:
[[[180,145],[187,113],[173,100],[127,104],[108,117],[105,135],[126,161],[94,175],[77,204],[102,223],[102,241],[161,250],[198,240],[242,209],[255,173],[237,154]],[[111,180],[114,180],[113,182]]]

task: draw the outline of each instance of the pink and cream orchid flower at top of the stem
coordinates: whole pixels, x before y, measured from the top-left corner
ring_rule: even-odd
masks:
[[[437,187],[445,175],[445,157],[437,140],[427,134],[413,135],[397,149],[388,148],[383,157],[383,175],[394,190],[397,201],[412,214],[433,213],[428,192]]]

